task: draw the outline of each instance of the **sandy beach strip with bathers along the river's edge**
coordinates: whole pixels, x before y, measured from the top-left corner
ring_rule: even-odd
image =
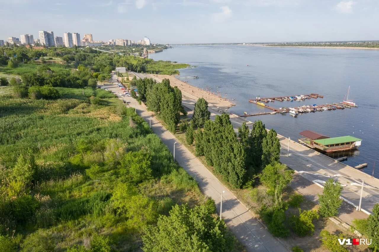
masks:
[[[227,110],[230,107],[235,105],[231,101],[225,99],[224,97],[220,97],[217,93],[212,93],[205,89],[191,86],[187,82],[180,81],[179,79],[175,78],[175,76],[171,76],[171,75],[153,75],[153,76],[157,77],[158,79],[164,79],[164,78],[169,79],[171,86],[178,87],[182,91],[182,94],[184,96],[188,96],[188,98],[191,98],[191,99],[204,98],[205,100],[208,101],[208,103],[210,103],[210,105],[212,104],[224,110]]]

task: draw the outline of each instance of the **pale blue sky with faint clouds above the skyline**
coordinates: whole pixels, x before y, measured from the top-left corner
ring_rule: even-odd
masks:
[[[160,44],[379,40],[379,0],[0,0],[0,39],[38,31]]]

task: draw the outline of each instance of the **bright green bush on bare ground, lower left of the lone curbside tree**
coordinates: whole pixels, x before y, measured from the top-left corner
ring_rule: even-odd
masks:
[[[315,232],[315,225],[313,219],[318,219],[319,216],[316,210],[304,210],[301,212],[299,208],[299,215],[293,215],[290,218],[292,230],[296,235],[304,237],[306,235],[313,235]]]

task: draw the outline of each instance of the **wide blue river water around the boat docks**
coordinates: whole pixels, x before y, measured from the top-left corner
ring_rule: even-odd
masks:
[[[236,104],[230,110],[254,114],[271,110],[249,103],[256,96],[273,97],[319,93],[324,98],[305,101],[275,101],[276,108],[298,105],[339,103],[350,86],[349,100],[358,108],[290,114],[260,115],[247,120],[262,120],[266,128],[299,139],[309,129],[329,137],[351,135],[362,139],[362,146],[349,153],[344,163],[368,163],[363,171],[379,178],[379,50],[334,48],[259,47],[249,45],[174,46],[150,54],[154,60],[188,63],[196,67],[180,69],[189,84],[220,92]]]

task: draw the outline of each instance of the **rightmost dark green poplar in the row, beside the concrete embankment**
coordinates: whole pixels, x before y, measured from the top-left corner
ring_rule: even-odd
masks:
[[[262,166],[279,162],[280,142],[274,129],[270,129],[262,142]]]

